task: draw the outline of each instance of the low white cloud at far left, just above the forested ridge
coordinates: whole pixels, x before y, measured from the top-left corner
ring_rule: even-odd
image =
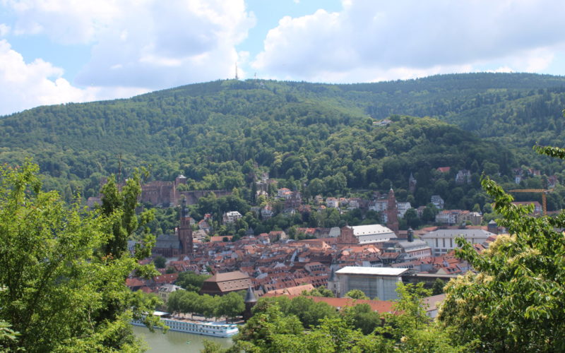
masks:
[[[76,88],[61,76],[63,70],[42,59],[26,63],[6,40],[0,40],[0,115],[44,104],[85,102],[131,97],[139,88]]]

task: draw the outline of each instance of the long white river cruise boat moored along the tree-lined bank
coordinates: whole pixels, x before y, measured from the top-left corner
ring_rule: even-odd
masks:
[[[222,323],[213,321],[193,321],[179,318],[169,318],[168,313],[155,311],[154,315],[160,316],[169,330],[184,333],[197,333],[198,335],[208,335],[215,337],[232,337],[239,332],[237,325],[234,323]],[[145,326],[141,320],[131,321],[132,325]]]

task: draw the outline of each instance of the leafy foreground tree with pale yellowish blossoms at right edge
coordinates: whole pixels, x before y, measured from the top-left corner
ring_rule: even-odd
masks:
[[[560,148],[536,148],[565,157]],[[499,236],[477,253],[457,239],[457,256],[479,273],[468,273],[446,287],[439,319],[455,327],[459,342],[480,340],[482,351],[559,352],[565,349],[565,213],[530,215],[533,207],[516,206],[501,186],[484,177],[482,186],[494,199],[498,224],[510,236]]]

